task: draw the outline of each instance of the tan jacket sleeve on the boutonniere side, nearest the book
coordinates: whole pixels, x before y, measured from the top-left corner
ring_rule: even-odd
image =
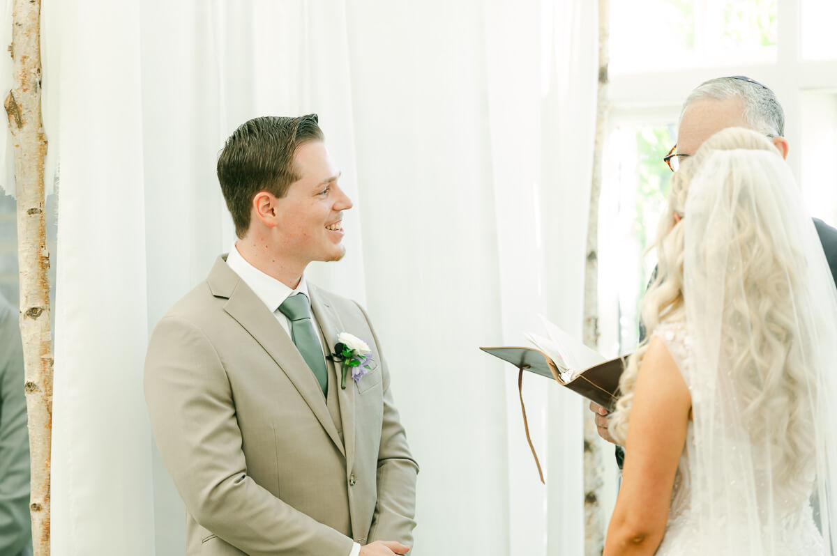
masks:
[[[363,311],[362,307],[360,309]],[[363,316],[372,330],[383,371],[383,426],[381,447],[377,455],[377,503],[367,542],[398,541],[412,548],[419,464],[410,454],[404,427],[401,426],[398,410],[393,404],[393,392],[389,389],[389,369],[381,352],[381,344],[377,341],[365,311]]]

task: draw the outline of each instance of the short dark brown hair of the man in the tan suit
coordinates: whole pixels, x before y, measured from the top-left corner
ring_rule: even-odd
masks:
[[[250,207],[259,191],[282,197],[300,179],[294,168],[297,147],[323,140],[316,114],[284,118],[262,116],[239,125],[218,155],[218,181],[235,234],[250,227]]]

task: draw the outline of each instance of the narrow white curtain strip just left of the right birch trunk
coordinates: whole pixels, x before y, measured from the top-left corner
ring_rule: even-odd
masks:
[[[549,253],[547,307],[555,324],[581,339],[598,78],[596,3],[556,2],[544,20],[552,23],[552,41],[545,45],[549,64],[543,99],[545,119],[551,122],[544,126],[543,142],[552,152],[544,157],[543,173],[552,186],[545,189],[541,204]],[[578,446],[583,446],[583,418],[590,418],[586,406],[566,390],[549,392],[549,556],[584,553],[584,465]]]

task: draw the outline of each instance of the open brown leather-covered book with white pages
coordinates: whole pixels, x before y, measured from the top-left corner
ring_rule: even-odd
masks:
[[[624,358],[605,360],[555,324],[543,317],[541,319],[549,337],[526,334],[526,339],[535,348],[506,346],[480,349],[518,369],[553,378],[558,384],[595,401],[599,406],[613,410],[619,376],[624,370]]]

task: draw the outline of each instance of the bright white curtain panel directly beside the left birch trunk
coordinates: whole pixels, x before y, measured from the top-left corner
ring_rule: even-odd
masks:
[[[129,3],[60,21],[52,553],[153,553],[142,400],[146,258],[139,26]],[[103,46],[107,48],[103,48]]]

